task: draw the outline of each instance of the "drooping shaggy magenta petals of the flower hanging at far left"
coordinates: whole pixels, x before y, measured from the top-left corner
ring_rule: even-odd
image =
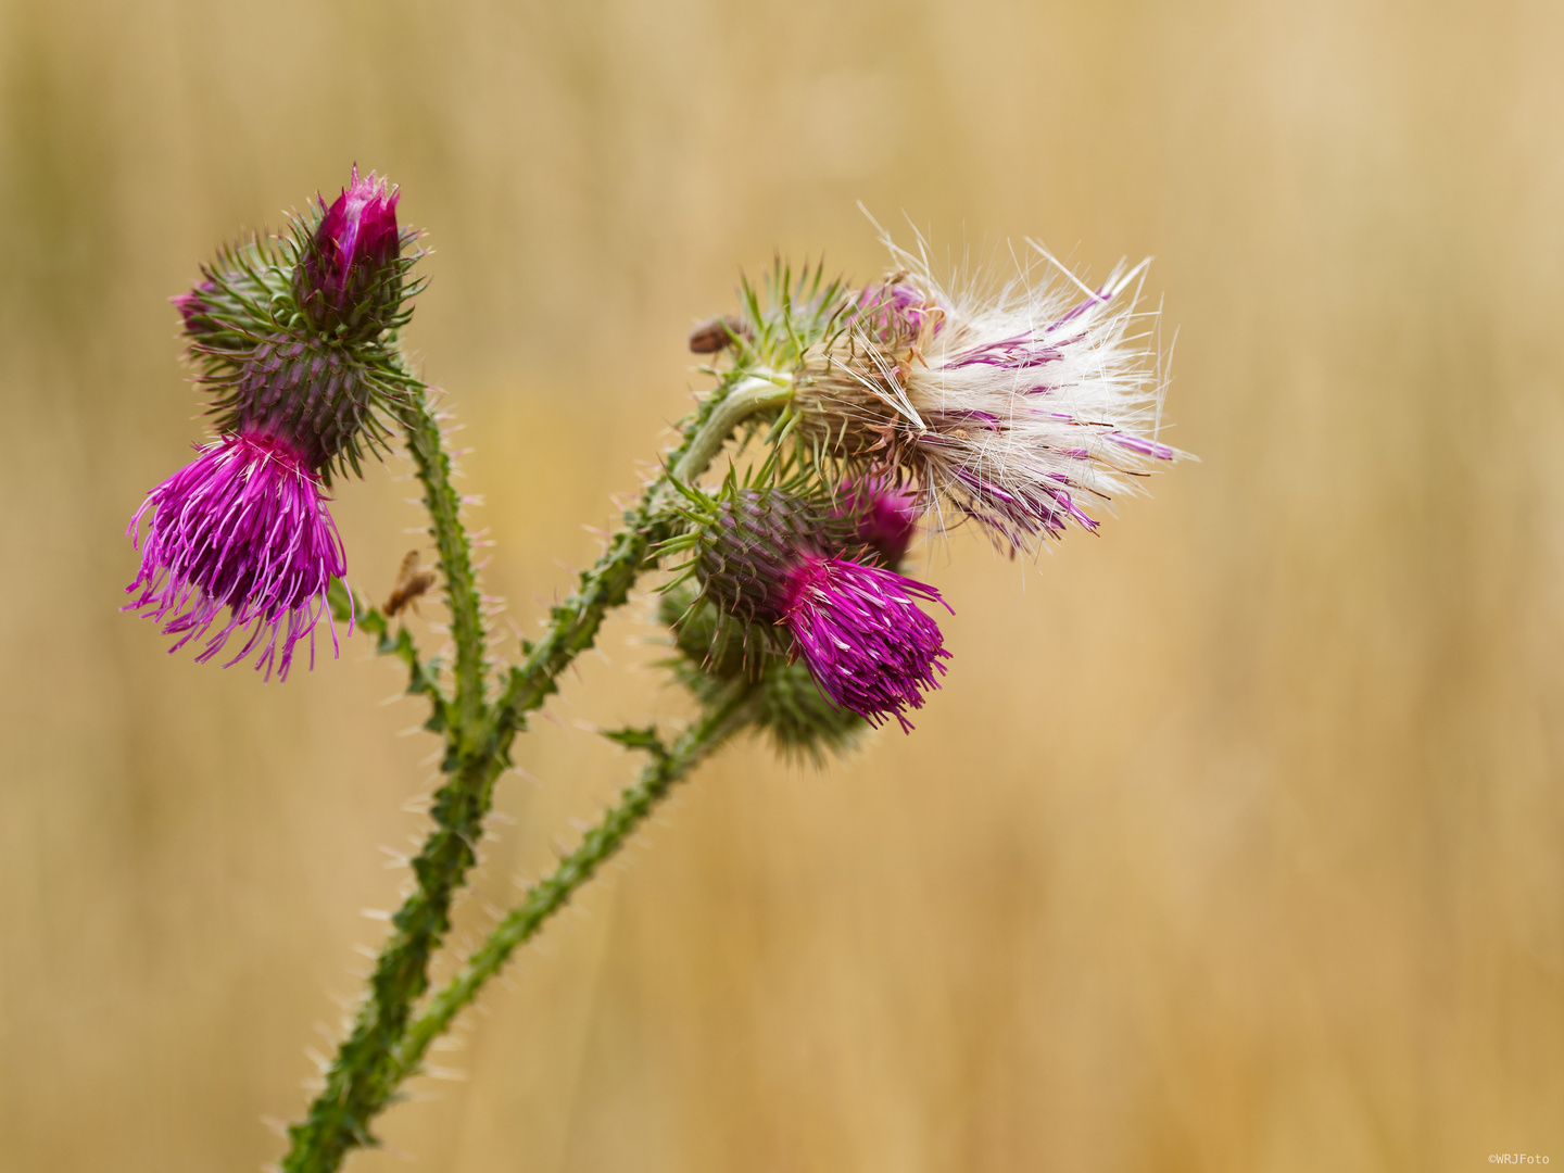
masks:
[[[224,668],[253,652],[267,680],[274,668],[288,679],[294,644],[305,637],[313,668],[327,586],[347,569],[319,482],[297,447],[263,432],[225,435],[199,452],[147,494],[127,529],[141,549],[141,571],[125,588],[139,594],[124,610],[178,635],[172,654],[206,638],[227,607],[228,622],[206,638],[199,663],[247,629],[244,646]],[[142,541],[147,510],[153,516]]]

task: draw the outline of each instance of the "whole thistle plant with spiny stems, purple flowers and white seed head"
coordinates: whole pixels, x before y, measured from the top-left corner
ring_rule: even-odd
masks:
[[[1143,263],[1093,289],[1031,246],[1035,269],[959,291],[935,282],[921,244],[890,246],[891,272],[862,286],[779,263],[741,283],[737,311],[691,332],[710,389],[574,593],[502,663],[444,416],[400,344],[422,282],[419,236],[396,213],[396,189],[355,169],[332,203],[221,250],[172,299],[213,435],[130,524],[141,569],[127,610],[177,637],[170,651],[199,641],[197,660],[253,658],[285,680],[303,641],[314,666],[322,619],[333,651],[336,624],[366,632],[404,665],[444,744],[410,891],[288,1131],[288,1173],[335,1170],[374,1145],[374,1118],[430,1043],[726,741],[754,732],[782,757],[823,763],[871,727],[913,732],[954,665],[938,626],[951,604],[909,574],[920,532],[971,522],[1031,552],[1071,527],[1095,532],[1087,505],[1181,455],[1156,436],[1165,385],[1156,314],[1137,310]],[[399,605],[353,593],[327,508],[333,479],[364,475],[394,444],[424,490],[449,662],[418,646]],[[694,716],[680,730],[604,734],[644,754],[640,776],[432,990],[515,738],[643,580]]]

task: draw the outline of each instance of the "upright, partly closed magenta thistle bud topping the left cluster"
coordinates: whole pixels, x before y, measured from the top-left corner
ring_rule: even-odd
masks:
[[[369,172],[325,206],[299,264],[299,303],[321,330],[383,327],[385,308],[400,300],[402,233],[396,222],[400,192]]]

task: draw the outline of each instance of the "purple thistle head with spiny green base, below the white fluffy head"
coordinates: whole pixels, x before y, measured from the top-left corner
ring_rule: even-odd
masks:
[[[888,493],[854,490],[860,504],[893,511]],[[945,605],[932,586],[887,566],[860,540],[871,511],[835,508],[779,488],[727,486],[698,519],[687,544],[704,599],[744,632],[765,630],[777,651],[801,657],[820,690],[871,724],[895,716],[910,729],[907,708],[938,687],[949,658],[918,601]],[[895,518],[899,522],[901,518]],[[906,551],[906,530],[888,538]],[[713,646],[721,641],[721,633]]]

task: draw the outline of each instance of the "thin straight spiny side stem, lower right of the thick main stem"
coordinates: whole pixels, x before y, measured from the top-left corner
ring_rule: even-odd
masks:
[[[468,957],[461,973],[430,998],[424,1012],[408,1026],[396,1051],[399,1078],[418,1068],[429,1045],[450,1028],[452,1020],[477,996],[479,988],[499,973],[511,952],[530,940],[549,917],[569,902],[576,890],[586,884],[605,860],[624,846],[629,835],[666,798],[674,784],[743,726],[755,690],[757,685],[737,682],[674,741],[673,748],[662,743],[644,746],[652,760],[641,769],[635,785],[624,790],[619,804],[604,812],[597,826],[586,832],[576,851],[560,860],[552,876],[527,890],[522,902],[511,909],[488,940]]]

